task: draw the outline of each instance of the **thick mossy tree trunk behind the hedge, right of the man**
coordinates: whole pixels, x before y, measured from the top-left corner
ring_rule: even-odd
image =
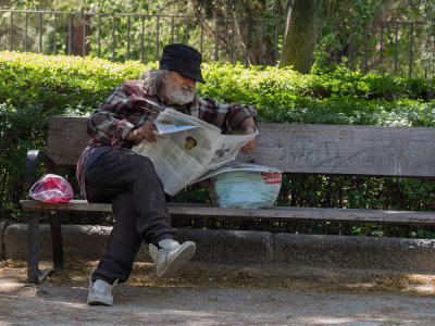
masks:
[[[287,15],[281,66],[309,74],[313,62],[322,0],[295,0]]]

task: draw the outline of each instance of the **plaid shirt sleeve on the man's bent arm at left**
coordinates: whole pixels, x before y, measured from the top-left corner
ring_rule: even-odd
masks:
[[[105,146],[122,145],[135,125],[127,120],[132,110],[134,91],[127,84],[117,86],[102,102],[87,126],[88,135]]]

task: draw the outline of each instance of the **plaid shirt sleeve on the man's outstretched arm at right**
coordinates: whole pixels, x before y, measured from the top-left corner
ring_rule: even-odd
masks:
[[[223,104],[211,98],[200,101],[200,118],[220,127],[224,134],[238,128],[247,117],[257,118],[257,108],[244,104]]]

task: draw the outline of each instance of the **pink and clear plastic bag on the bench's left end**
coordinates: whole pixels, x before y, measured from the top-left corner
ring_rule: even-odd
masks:
[[[44,202],[67,202],[74,198],[73,187],[64,178],[55,174],[47,174],[37,180],[28,191],[36,200]]]

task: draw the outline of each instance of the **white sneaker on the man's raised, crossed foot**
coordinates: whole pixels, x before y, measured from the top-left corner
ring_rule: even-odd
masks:
[[[179,244],[173,239],[159,241],[158,246],[149,244],[149,253],[156,263],[157,277],[171,277],[184,266],[195,254],[195,242]]]

